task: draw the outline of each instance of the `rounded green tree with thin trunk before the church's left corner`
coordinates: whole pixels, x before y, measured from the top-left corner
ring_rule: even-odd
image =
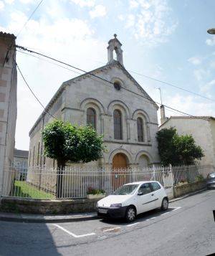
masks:
[[[44,155],[57,160],[57,197],[62,197],[60,176],[67,161],[87,163],[102,156],[103,138],[90,126],[75,126],[54,120],[42,131]]]

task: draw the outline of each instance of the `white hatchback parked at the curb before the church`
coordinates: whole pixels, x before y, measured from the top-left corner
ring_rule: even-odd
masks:
[[[140,181],[120,186],[113,194],[97,202],[100,217],[125,217],[132,222],[137,214],[152,209],[168,209],[168,196],[158,181]]]

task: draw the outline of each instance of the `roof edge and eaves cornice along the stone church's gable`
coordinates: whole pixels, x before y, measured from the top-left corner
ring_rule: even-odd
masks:
[[[135,84],[136,87],[138,87],[138,89],[140,90],[140,92],[144,95],[144,98],[148,99],[149,101],[151,101],[151,103],[153,103],[153,105],[156,106],[156,108],[158,109],[158,105],[154,102],[154,100],[148,95],[148,93],[145,92],[145,90],[143,90],[143,87],[141,87],[139,85],[139,83],[133,78],[132,75],[130,75],[130,73],[125,70],[125,67],[123,67],[123,65],[120,64],[120,62],[118,61],[114,61],[110,64],[107,64],[107,65],[104,65],[102,67],[98,67],[97,69],[95,70],[92,70],[92,71],[89,71],[89,72],[86,72],[82,75],[79,75],[77,77],[73,77],[72,79],[70,80],[67,80],[65,82],[62,83],[62,85],[59,87],[59,89],[57,90],[57,92],[54,94],[54,96],[52,97],[52,99],[49,101],[49,103],[47,104],[46,108],[43,110],[42,114],[39,115],[39,118],[37,119],[37,121],[34,123],[34,125],[32,126],[32,129],[29,131],[29,136],[30,134],[32,133],[32,131],[34,131],[34,128],[37,126],[37,124],[39,123],[39,121],[43,118],[43,116],[49,111],[50,108],[52,108],[52,105],[54,104],[54,102],[57,100],[57,98],[59,98],[59,96],[62,94],[62,92],[65,90],[65,87],[70,83],[70,82],[75,82],[76,80],[82,80],[84,79],[85,77],[91,77],[93,75],[95,75],[97,79],[100,79],[102,80],[102,77],[98,77],[96,74],[97,72],[102,72],[102,70],[105,70],[105,69],[108,69],[108,68],[111,68],[111,67],[115,67],[115,66],[118,66],[122,71],[123,73]]]

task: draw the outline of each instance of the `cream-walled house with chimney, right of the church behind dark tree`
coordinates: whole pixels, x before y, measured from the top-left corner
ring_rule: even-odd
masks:
[[[211,116],[171,116],[166,118],[161,105],[161,125],[163,128],[176,128],[179,135],[191,135],[196,145],[201,146],[204,157],[199,161],[203,166],[211,166],[208,172],[215,168],[215,118]]]

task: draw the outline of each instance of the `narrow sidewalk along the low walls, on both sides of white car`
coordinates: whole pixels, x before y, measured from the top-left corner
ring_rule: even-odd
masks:
[[[184,196],[171,199],[169,203],[176,202],[178,200],[184,199],[188,196],[201,193],[206,189],[201,189]],[[54,223],[54,222],[80,222],[91,219],[100,219],[97,217],[96,212],[87,212],[80,214],[67,214],[67,215],[42,215],[42,214],[15,214],[0,212],[0,220],[7,222],[33,222],[33,223]]]

